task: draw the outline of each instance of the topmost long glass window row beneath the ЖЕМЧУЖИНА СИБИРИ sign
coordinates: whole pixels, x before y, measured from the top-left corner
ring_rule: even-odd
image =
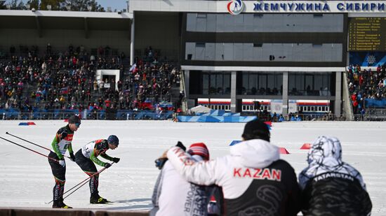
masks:
[[[199,32],[342,32],[342,14],[187,13],[187,31]]]

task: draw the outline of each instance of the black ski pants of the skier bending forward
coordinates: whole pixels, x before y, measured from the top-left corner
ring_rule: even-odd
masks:
[[[94,175],[95,173],[98,172],[97,168],[95,167],[95,164],[91,159],[88,159],[87,157],[84,157],[83,153],[81,150],[76,152],[75,154],[75,162],[78,164],[81,169],[86,173],[88,176],[92,176],[90,178],[90,194],[91,197],[99,197],[99,192],[98,192],[98,185],[99,185],[99,174]]]

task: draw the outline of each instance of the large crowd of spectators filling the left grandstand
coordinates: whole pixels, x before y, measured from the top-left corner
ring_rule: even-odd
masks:
[[[171,87],[180,82],[179,70],[159,64],[151,47],[126,74],[124,53],[107,58],[108,47],[98,48],[96,56],[88,55],[83,46],[53,52],[48,44],[43,57],[36,50],[22,50],[27,55],[16,56],[11,47],[11,59],[0,62],[0,108],[153,110],[155,103],[171,101]],[[96,69],[119,69],[121,80],[97,80]],[[28,95],[25,86],[30,88]]]

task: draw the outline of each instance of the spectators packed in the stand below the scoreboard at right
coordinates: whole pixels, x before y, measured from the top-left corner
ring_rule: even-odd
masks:
[[[386,65],[378,65],[375,71],[349,66],[347,70],[350,99],[354,114],[366,113],[365,99],[386,98]]]

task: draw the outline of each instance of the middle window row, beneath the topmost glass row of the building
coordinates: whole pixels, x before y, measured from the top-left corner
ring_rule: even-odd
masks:
[[[185,59],[240,62],[342,62],[342,44],[187,42]]]

